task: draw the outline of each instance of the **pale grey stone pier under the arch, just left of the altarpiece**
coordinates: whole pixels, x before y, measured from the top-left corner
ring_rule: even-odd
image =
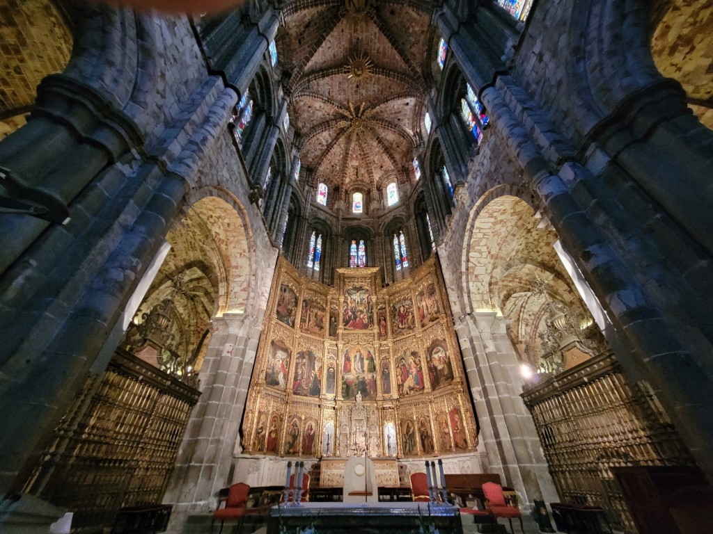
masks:
[[[183,436],[164,501],[173,503],[168,531],[180,533],[188,515],[217,506],[217,491],[230,486],[233,454],[240,452],[240,423],[261,326],[251,316],[214,318],[200,370],[202,395]]]

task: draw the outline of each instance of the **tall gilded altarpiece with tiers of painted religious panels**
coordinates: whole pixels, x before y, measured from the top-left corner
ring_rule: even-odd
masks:
[[[436,258],[387,288],[379,268],[337,269],[329,287],[281,258],[243,419],[245,451],[337,459],[473,451],[452,323]]]

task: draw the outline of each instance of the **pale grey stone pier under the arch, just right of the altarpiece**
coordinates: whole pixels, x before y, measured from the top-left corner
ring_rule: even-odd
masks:
[[[495,312],[474,312],[456,325],[480,439],[490,470],[515,488],[521,505],[558,501],[535,424],[520,398],[523,381],[506,323]]]

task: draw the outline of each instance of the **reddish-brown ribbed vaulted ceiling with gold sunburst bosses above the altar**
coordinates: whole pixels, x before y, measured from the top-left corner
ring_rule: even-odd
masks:
[[[431,1],[376,0],[296,1],[284,9],[277,51],[302,165],[314,182],[345,192],[412,179],[434,58],[433,9]]]

